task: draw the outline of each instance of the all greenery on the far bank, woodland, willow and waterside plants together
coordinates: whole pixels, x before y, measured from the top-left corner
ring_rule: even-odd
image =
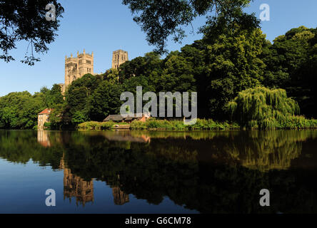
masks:
[[[121,94],[136,95],[137,86],[156,96],[195,91],[198,121],[184,125],[182,120],[152,119],[132,123],[133,130],[317,128],[317,29],[292,28],[271,43],[260,28],[232,28],[203,33],[201,40],[164,58],[151,52],[99,75],[87,73],[64,94],[55,84],[34,95],[4,95],[0,128],[36,130],[38,114],[49,108],[46,129],[108,130],[116,123],[101,121],[119,114],[124,105]]]

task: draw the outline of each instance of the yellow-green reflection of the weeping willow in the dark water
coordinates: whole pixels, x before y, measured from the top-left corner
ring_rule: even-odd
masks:
[[[255,170],[286,170],[301,155],[306,135],[303,131],[250,131],[239,135],[224,147],[233,160]],[[248,139],[243,143],[243,140]]]

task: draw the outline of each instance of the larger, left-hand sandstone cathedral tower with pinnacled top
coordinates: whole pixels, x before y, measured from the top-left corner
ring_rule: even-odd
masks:
[[[73,58],[71,54],[70,58],[65,56],[65,90],[73,81],[81,78],[86,73],[94,74],[94,52],[91,54],[77,52],[77,57]]]

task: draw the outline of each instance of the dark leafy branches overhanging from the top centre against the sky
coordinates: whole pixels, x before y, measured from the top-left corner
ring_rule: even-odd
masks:
[[[208,24],[218,21],[221,24],[236,21],[248,27],[258,26],[254,14],[243,13],[243,8],[251,0],[123,0],[129,6],[134,21],[146,33],[149,44],[156,46],[158,53],[166,53],[168,36],[181,43],[186,36],[182,26],[188,26],[197,16],[208,16]],[[213,15],[213,16],[211,16]]]

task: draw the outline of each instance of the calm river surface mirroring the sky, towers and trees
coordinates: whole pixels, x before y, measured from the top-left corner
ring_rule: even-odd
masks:
[[[0,213],[316,213],[316,148],[316,130],[0,131]]]

